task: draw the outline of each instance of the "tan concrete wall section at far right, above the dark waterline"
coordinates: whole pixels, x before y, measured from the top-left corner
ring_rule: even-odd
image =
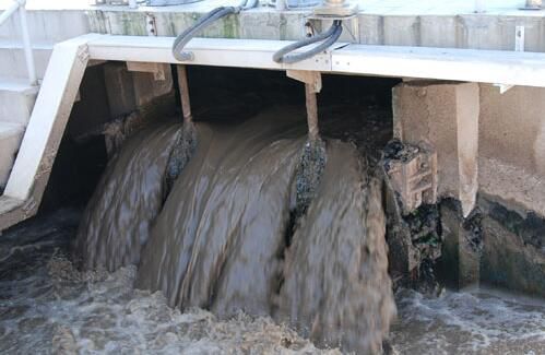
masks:
[[[545,216],[545,88],[481,85],[481,191]]]

